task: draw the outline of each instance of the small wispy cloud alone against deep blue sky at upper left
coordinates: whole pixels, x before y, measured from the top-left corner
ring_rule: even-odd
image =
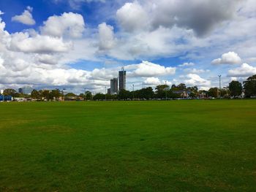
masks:
[[[12,21],[23,23],[28,26],[33,26],[36,22],[31,15],[32,11],[33,8],[28,6],[21,15],[15,15],[12,17]]]

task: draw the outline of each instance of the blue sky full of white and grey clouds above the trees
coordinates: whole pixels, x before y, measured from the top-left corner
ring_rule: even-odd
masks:
[[[1,0],[0,88],[208,89],[256,74],[255,0]]]

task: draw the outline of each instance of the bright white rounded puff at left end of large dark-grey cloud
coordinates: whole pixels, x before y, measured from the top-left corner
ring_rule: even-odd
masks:
[[[121,27],[129,32],[143,29],[148,21],[147,13],[138,1],[124,4],[117,10],[116,18]]]

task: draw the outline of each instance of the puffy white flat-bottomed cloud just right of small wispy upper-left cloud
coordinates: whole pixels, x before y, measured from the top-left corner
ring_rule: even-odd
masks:
[[[51,16],[40,28],[43,35],[52,37],[82,37],[85,30],[83,16],[73,12],[64,12],[60,16]]]

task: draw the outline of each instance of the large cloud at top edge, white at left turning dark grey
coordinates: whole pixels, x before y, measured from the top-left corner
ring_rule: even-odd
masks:
[[[203,37],[225,20],[230,20],[238,9],[239,0],[149,0],[126,3],[118,9],[118,23],[126,31],[149,28],[192,29],[198,37]],[[151,15],[149,18],[147,15]]]

